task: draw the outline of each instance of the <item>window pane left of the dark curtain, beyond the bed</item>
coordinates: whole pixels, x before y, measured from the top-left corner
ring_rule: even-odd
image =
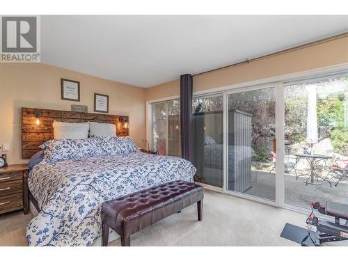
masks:
[[[159,155],[181,156],[180,100],[150,105],[152,112],[152,150]]]

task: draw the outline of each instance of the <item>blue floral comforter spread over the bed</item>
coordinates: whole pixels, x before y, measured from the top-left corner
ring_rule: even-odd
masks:
[[[29,246],[88,246],[100,237],[102,202],[164,182],[192,181],[195,173],[184,159],[142,152],[40,163],[28,180],[41,209],[27,226]]]

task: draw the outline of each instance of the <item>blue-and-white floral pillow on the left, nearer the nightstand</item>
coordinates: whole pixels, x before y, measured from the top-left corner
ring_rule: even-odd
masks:
[[[40,145],[40,148],[45,152],[44,162],[102,155],[99,138],[50,140]]]

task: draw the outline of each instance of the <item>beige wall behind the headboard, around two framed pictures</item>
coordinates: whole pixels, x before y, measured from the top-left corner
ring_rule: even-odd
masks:
[[[61,100],[61,78],[80,81],[81,102]],[[0,145],[10,143],[10,164],[21,159],[22,106],[70,111],[71,104],[88,105],[93,93],[109,95],[109,113],[129,116],[129,132],[136,145],[145,139],[145,89],[42,63],[0,64]],[[0,150],[0,154],[2,154]]]

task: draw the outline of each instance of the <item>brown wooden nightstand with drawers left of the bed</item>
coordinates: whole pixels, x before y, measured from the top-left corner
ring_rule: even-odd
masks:
[[[28,214],[28,170],[26,164],[0,168],[0,214],[18,209]]]

